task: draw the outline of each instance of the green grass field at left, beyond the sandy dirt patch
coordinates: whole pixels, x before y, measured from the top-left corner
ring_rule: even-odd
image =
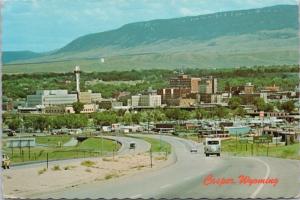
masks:
[[[50,144],[56,144],[60,136],[46,136],[38,137],[38,141],[46,142],[50,141]],[[68,141],[68,136],[63,137],[64,141]],[[42,139],[41,139],[42,138]],[[47,144],[47,143],[44,143]],[[101,145],[103,144],[102,150]],[[46,161],[47,154],[49,160],[59,160],[59,159],[70,159],[70,158],[84,158],[84,157],[95,157],[110,155],[113,150],[116,152],[120,148],[120,144],[103,139],[103,143],[100,138],[88,138],[87,140],[78,143],[74,147],[59,147],[55,145],[50,145],[49,147],[31,147],[30,155],[29,148],[7,148],[4,147],[4,152],[10,157],[12,163],[21,163],[29,161]]]

